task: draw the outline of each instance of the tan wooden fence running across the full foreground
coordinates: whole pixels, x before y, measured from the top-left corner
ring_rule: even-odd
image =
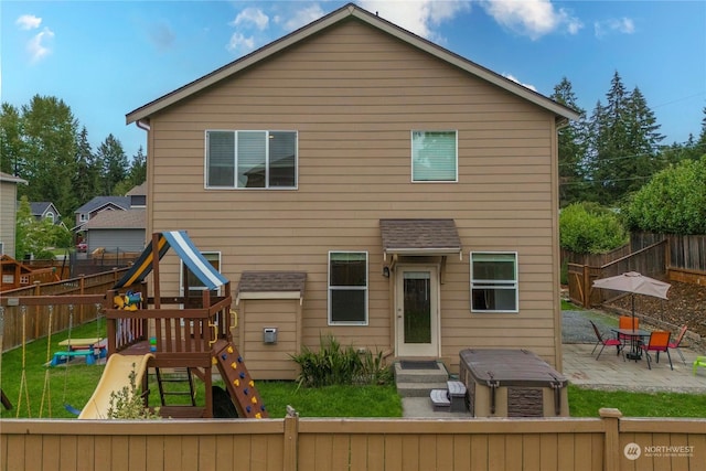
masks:
[[[0,470],[704,470],[706,419],[2,420]],[[60,452],[61,451],[61,452]]]

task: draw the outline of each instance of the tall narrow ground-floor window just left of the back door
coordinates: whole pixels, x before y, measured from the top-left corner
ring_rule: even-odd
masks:
[[[367,253],[329,253],[329,323],[367,324]]]

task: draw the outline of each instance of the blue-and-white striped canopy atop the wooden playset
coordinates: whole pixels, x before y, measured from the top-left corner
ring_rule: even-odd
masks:
[[[179,258],[189,267],[192,274],[210,290],[216,289],[228,282],[228,279],[221,275],[213,266],[201,255],[194,243],[189,238],[185,231],[169,231],[158,234],[157,247],[159,249],[158,258],[161,259],[169,248],[173,248]],[[142,281],[152,271],[152,244],[149,244],[140,257],[137,259],[132,268],[113,287],[119,289],[126,286]]]

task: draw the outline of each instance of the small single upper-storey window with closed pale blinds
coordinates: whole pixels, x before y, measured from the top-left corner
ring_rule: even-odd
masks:
[[[458,181],[456,131],[411,131],[411,181]]]

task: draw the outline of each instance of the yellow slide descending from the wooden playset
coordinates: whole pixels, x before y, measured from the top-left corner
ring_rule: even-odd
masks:
[[[110,407],[110,393],[118,393],[125,386],[130,387],[130,372],[135,371],[135,384],[142,384],[142,376],[147,371],[147,363],[152,354],[120,355],[114,353],[108,358],[103,376],[93,392],[93,396],[78,416],[79,419],[106,419]]]

